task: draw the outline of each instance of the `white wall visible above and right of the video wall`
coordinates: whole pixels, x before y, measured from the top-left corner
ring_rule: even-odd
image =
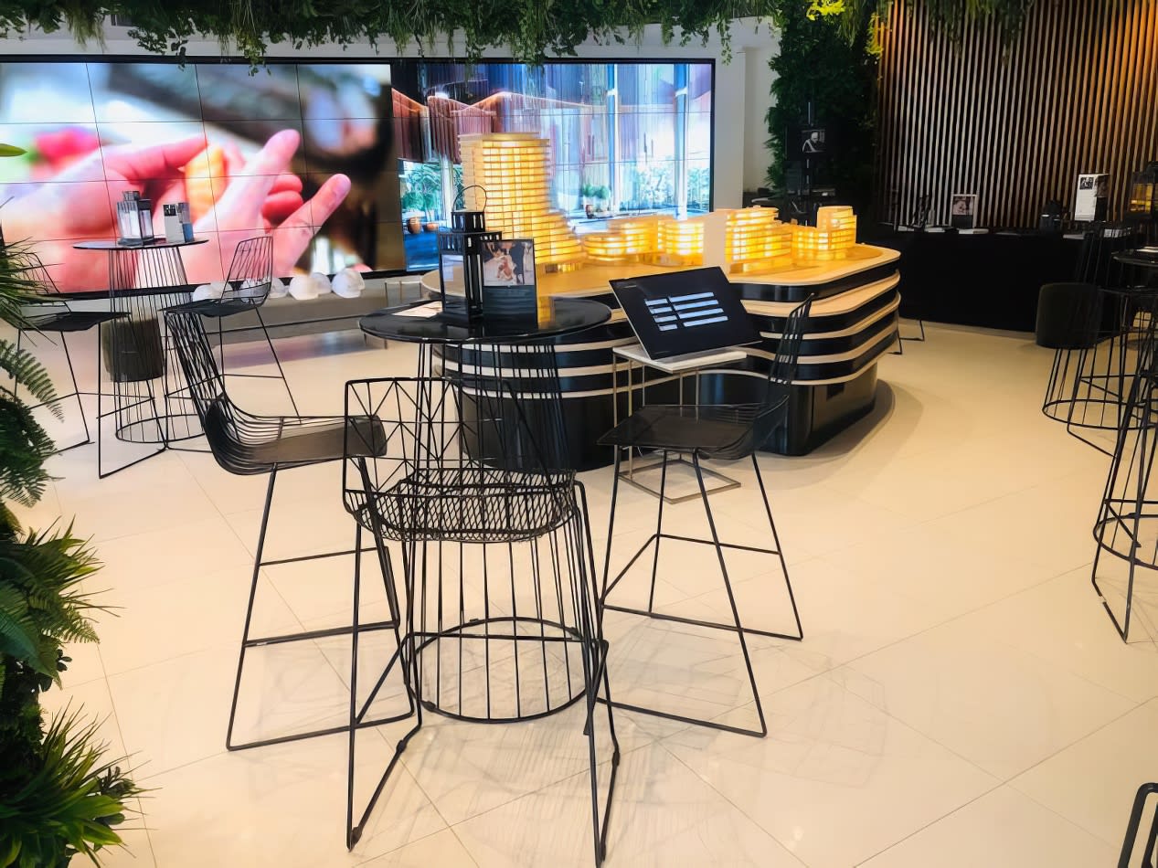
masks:
[[[741,191],[754,190],[763,183],[768,169],[768,156],[764,140],[768,134],[764,128],[764,112],[768,110],[768,88],[771,83],[768,71],[768,59],[778,46],[778,36],[774,36],[768,24],[761,24],[755,19],[740,19],[732,24],[732,59],[724,62],[720,57],[718,37],[712,37],[706,45],[692,42],[681,46],[677,41],[664,45],[658,27],[645,29],[639,42],[628,41],[621,45],[610,43],[600,45],[588,41],[578,47],[580,58],[608,59],[655,59],[655,60],[716,60],[716,153],[713,160],[712,193],[717,208],[739,207]],[[221,47],[214,41],[190,42],[186,47],[190,57],[218,57]],[[456,41],[455,51],[448,52],[446,43],[440,42],[430,57],[445,57],[454,53],[461,57],[463,47]],[[32,32],[24,38],[0,39],[0,56],[61,56],[101,57],[101,56],[148,56],[134,41],[129,38],[126,28],[105,28],[104,44],[89,43],[78,45],[66,32]],[[384,41],[378,47],[358,44],[343,47],[340,45],[322,45],[314,49],[296,50],[292,45],[271,45],[271,58],[293,58],[308,62],[312,57],[350,58],[357,62],[368,59],[389,60],[397,57],[418,57],[416,46],[410,45],[398,50],[393,42]],[[486,52],[488,57],[507,58],[508,52],[494,50]]]

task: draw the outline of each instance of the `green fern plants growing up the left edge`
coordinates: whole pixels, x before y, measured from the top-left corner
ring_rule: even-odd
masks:
[[[0,321],[28,326],[36,285],[17,247],[0,249]],[[54,398],[47,373],[27,351],[0,340],[0,868],[61,868],[122,843],[115,826],[140,789],[103,758],[97,723],[66,709],[45,724],[39,697],[60,685],[66,642],[96,641],[101,609],[81,581],[97,569],[72,527],[21,527],[13,503],[30,507],[49,480],[52,440],[15,393]],[[51,406],[51,405],[50,405]],[[53,407],[54,412],[59,412]]]

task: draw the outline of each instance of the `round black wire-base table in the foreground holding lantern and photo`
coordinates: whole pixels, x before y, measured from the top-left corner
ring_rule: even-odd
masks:
[[[589,528],[565,463],[554,341],[610,310],[560,299],[537,321],[440,311],[419,302],[360,321],[367,334],[419,347],[417,376],[382,381],[393,397],[367,396],[357,411],[384,418],[390,405],[412,419],[403,420],[409,472],[371,484],[366,500],[381,495],[379,524],[406,552],[406,641],[423,706],[460,720],[533,720],[584,696],[594,641]],[[398,383],[412,387],[405,398]],[[397,515],[410,502],[424,512]]]

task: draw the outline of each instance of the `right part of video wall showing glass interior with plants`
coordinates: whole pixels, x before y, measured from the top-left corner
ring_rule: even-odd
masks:
[[[550,142],[551,207],[582,231],[613,215],[711,208],[711,61],[393,65],[408,227],[442,219],[461,185],[459,137],[536,133]],[[432,245],[405,238],[418,267]]]

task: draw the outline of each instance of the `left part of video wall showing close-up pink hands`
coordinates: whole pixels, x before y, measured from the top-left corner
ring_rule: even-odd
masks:
[[[78,241],[116,237],[135,189],[188,201],[207,244],[189,280],[222,279],[237,243],[273,236],[277,275],[397,269],[396,160],[388,65],[0,64],[0,227],[31,241],[63,292],[108,287],[105,258]]]

